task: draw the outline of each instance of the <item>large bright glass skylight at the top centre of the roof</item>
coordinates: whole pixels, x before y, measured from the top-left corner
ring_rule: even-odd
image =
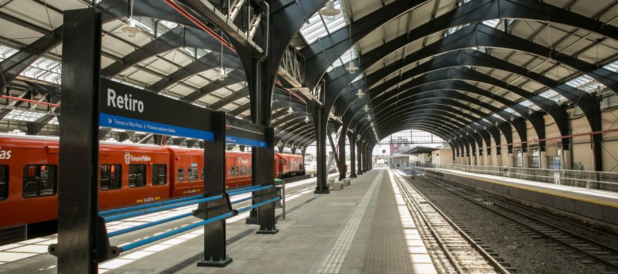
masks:
[[[319,38],[326,37],[326,35],[330,35],[333,31],[337,31],[348,24],[346,10],[342,6],[341,0],[335,0],[334,3],[336,9],[342,10],[339,15],[322,16],[319,12],[315,12],[315,15],[309,18],[308,23],[301,27],[301,35],[303,35],[307,44],[312,44]]]

